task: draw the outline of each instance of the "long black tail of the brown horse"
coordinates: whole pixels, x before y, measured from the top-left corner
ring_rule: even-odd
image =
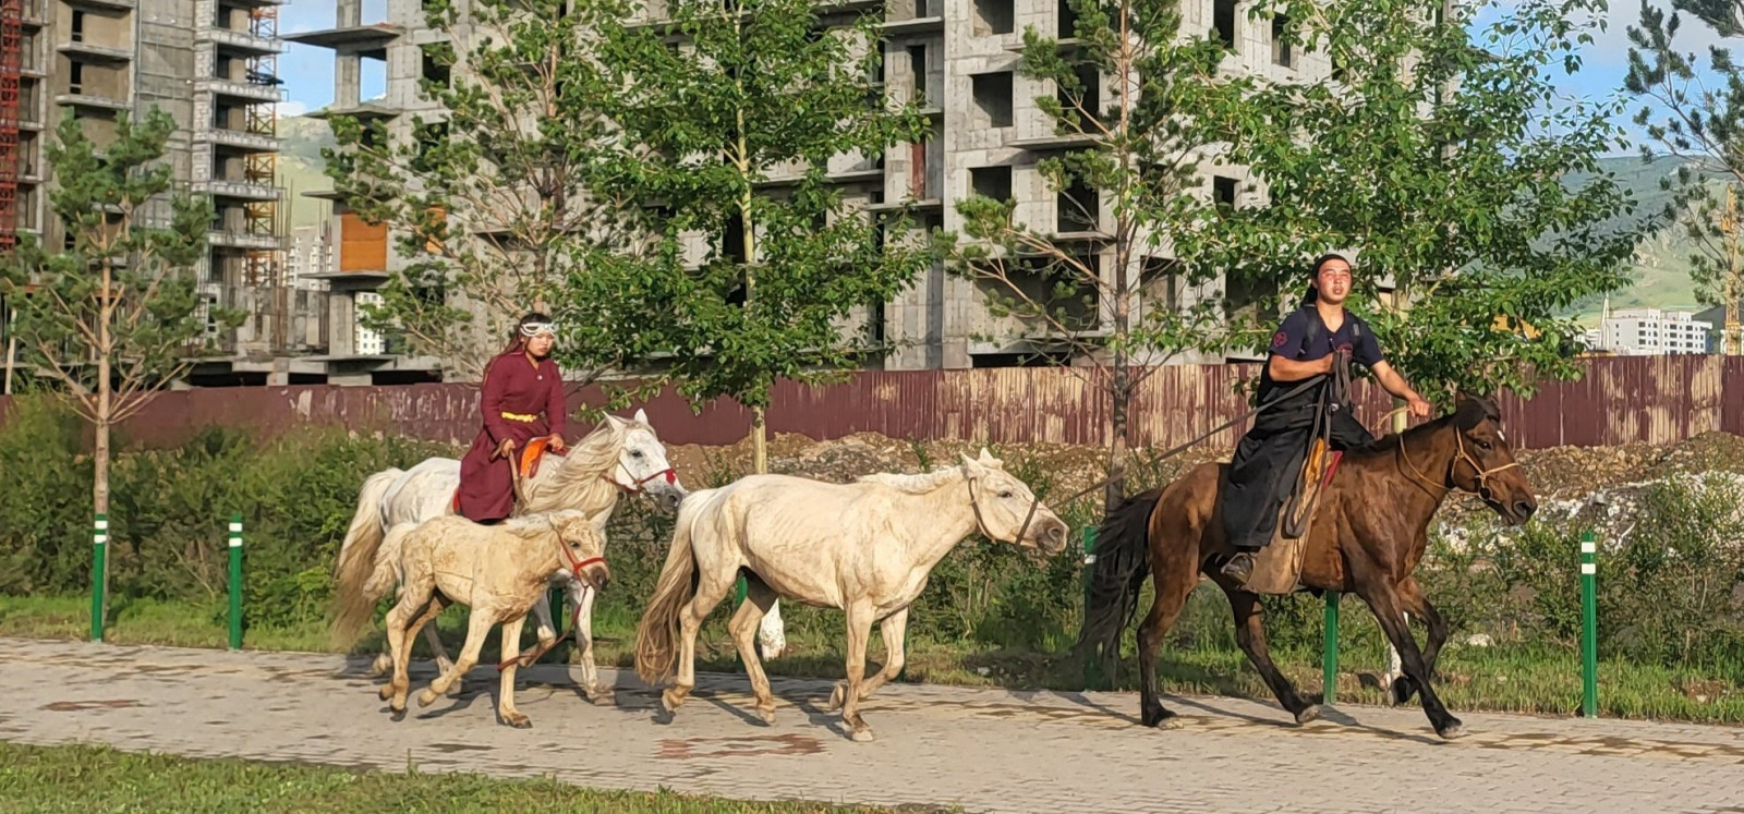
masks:
[[[1090,572],[1090,594],[1085,600],[1085,622],[1078,633],[1078,648],[1100,652],[1104,659],[1118,659],[1120,634],[1132,624],[1139,608],[1139,587],[1151,565],[1151,512],[1163,490],[1155,488],[1130,497],[1102,518],[1095,532],[1095,568]]]

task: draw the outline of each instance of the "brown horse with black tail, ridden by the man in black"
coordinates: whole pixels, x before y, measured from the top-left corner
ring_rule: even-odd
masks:
[[[1231,553],[1217,500],[1226,471],[1228,464],[1200,465],[1165,488],[1123,502],[1097,530],[1083,643],[1118,654],[1146,566],[1156,577],[1156,601],[1139,626],[1141,713],[1148,727],[1179,723],[1158,699],[1156,650],[1200,573],[1230,596],[1236,641],[1284,709],[1298,723],[1320,715],[1271,662],[1259,594],[1231,584],[1212,565]],[[1536,509],[1489,399],[1461,397],[1453,415],[1346,453],[1320,495],[1298,577],[1299,587],[1355,593],[1369,605],[1404,661],[1406,675],[1392,687],[1395,697],[1407,701],[1421,692],[1423,711],[1446,739],[1465,734],[1430,687],[1448,626],[1411,573],[1428,546],[1430,518],[1453,490],[1477,493],[1512,525],[1526,523]],[[1411,638],[1404,614],[1428,624],[1423,650]]]

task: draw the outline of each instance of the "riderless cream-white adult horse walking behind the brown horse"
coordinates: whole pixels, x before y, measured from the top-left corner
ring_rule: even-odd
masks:
[[[752,573],[748,601],[731,627],[757,713],[774,722],[769,676],[752,640],[776,596],[842,608],[848,680],[835,687],[830,708],[842,709],[855,741],[870,741],[860,702],[902,671],[909,605],[933,566],[977,530],[1048,554],[1066,549],[1066,523],[987,450],[928,474],[874,474],[848,485],[759,474],[696,492],[678,507],[666,565],[637,627],[637,675],[657,685],[677,662],[678,675],[661,695],[666,711],[677,713],[696,687],[703,619],[745,568]],[[874,622],[882,626],[886,659],[867,680]]]

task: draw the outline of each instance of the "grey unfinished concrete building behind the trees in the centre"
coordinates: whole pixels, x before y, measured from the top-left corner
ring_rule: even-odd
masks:
[[[649,3],[654,12],[661,3]],[[851,9],[865,5],[849,3]],[[902,145],[881,157],[839,157],[830,176],[842,187],[849,207],[895,206],[917,200],[921,227],[961,228],[954,202],[970,193],[1010,197],[1017,218],[1031,225],[1059,225],[1059,237],[1083,246],[1100,258],[1102,268],[1113,249],[1099,230],[1106,206],[1090,190],[1057,193],[1048,188],[1038,162],[1062,150],[1081,148],[1085,139],[1055,134],[1053,120],[1036,105],[1038,96],[1053,94],[1045,82],[1024,78],[1024,30],[1071,37],[1071,7],[1066,0],[884,0],[882,80],[898,99],[916,99],[931,119],[931,138]],[[291,42],[330,47],[335,52],[335,103],[326,113],[384,119],[394,138],[410,138],[410,115],[429,113],[431,103],[419,92],[419,78],[441,71],[426,59],[424,47],[443,42],[448,33],[431,30],[422,0],[385,0],[380,19],[364,19],[361,0],[335,2],[330,30],[290,37]],[[1235,70],[1263,71],[1278,78],[1325,75],[1331,66],[1324,54],[1301,54],[1273,37],[1282,21],[1249,19],[1238,0],[1186,0],[1184,28],[1221,37],[1231,49]],[[464,51],[464,44],[457,44]],[[385,94],[361,98],[361,64],[375,61],[385,70]],[[1104,77],[1087,75],[1088,85],[1106,87]],[[1106,103],[1106,98],[1104,98]],[[1205,195],[1231,204],[1257,202],[1263,190],[1252,188],[1240,167],[1202,169]],[[780,185],[773,180],[771,185]],[[1074,200],[1064,200],[1073,195]],[[1097,216],[1083,223],[1071,211],[1083,207]],[[1073,221],[1073,223],[1067,223]],[[330,300],[333,349],[351,342],[352,352],[380,342],[358,324],[358,305],[370,302],[401,263],[384,227],[370,227],[349,213],[344,200],[333,216],[337,263]],[[701,249],[701,246],[696,246]],[[1155,258],[1158,261],[1165,258]],[[1102,274],[1107,274],[1106,270]],[[889,370],[975,368],[1024,364],[1046,349],[1045,329],[989,312],[987,282],[966,281],[944,267],[933,267],[895,302],[865,309],[844,324],[849,331],[888,343],[893,350],[882,361]],[[1168,277],[1148,281],[1141,309],[1186,307],[1200,296],[1224,296],[1224,286],[1186,291]],[[1261,291],[1230,291],[1235,307],[1263,296]],[[1095,314],[1102,326],[1109,319],[1106,303]],[[351,328],[340,328],[340,326]],[[1093,336],[1102,328],[1092,324]],[[347,338],[349,336],[349,338]],[[387,349],[392,356],[392,349]],[[1172,363],[1219,363],[1223,357],[1177,356]]]

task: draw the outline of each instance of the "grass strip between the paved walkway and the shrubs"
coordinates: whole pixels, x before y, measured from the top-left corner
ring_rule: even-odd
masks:
[[[1209,601],[1189,603],[1181,629],[1214,631],[1165,647],[1158,664],[1165,692],[1216,694],[1271,699],[1270,690],[1235,647],[1228,610]],[[1383,694],[1374,675],[1386,664],[1373,619],[1346,603],[1339,652],[1339,702],[1381,704]],[[439,619],[448,652],[464,641],[464,608],[450,608]],[[187,603],[127,601],[112,607],[106,640],[117,645],[225,647],[225,626],[218,608]],[[532,626],[527,636],[530,641]],[[87,598],[7,598],[0,596],[0,636],[82,640],[91,633]],[[596,652],[602,664],[630,666],[635,619],[628,612],[602,605],[595,617]],[[1421,636],[1421,633],[1418,633]],[[788,652],[766,664],[771,675],[841,678],[842,638],[835,629],[806,629],[792,624],[787,631]],[[1132,631],[1127,633],[1130,643]],[[331,652],[326,627],[317,622],[283,629],[251,629],[248,648]],[[380,652],[382,634],[364,638],[356,652]],[[424,657],[419,638],[415,657]],[[495,661],[495,634],[487,643],[481,662]],[[560,648],[558,654],[567,654]],[[1320,689],[1320,648],[1278,645],[1273,661],[1305,694]],[[556,654],[548,655],[553,659]],[[872,661],[882,659],[881,645],[872,647]],[[734,650],[724,624],[705,626],[698,647],[698,669],[738,671]],[[1083,676],[1067,669],[1064,659],[1036,652],[1003,652],[961,641],[933,641],[910,636],[909,682],[991,685],[1010,689],[1083,689]],[[1137,659],[1121,666],[1116,687],[1137,682]],[[1573,715],[1580,708],[1580,657],[1573,648],[1528,643],[1472,647],[1451,641],[1442,650],[1435,676],[1442,701],[1453,709]],[[1137,708],[1137,702],[1134,704]],[[1641,664],[1604,661],[1599,664],[1599,713],[1624,718],[1659,718],[1690,722],[1744,723],[1744,654],[1734,664]]]

